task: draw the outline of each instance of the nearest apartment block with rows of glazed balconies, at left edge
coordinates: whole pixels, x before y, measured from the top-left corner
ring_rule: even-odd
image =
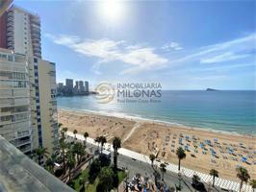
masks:
[[[28,62],[25,55],[0,48],[0,134],[29,154],[32,132]]]

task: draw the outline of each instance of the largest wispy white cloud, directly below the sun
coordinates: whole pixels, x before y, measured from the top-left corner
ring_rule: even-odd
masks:
[[[148,46],[127,45],[125,41],[115,41],[108,38],[101,39],[81,39],[78,36],[52,36],[50,37],[56,44],[69,47],[73,51],[88,57],[98,58],[96,66],[101,62],[119,60],[133,65],[131,72],[165,67],[168,60],[156,54],[154,48]],[[125,70],[127,73],[129,70]],[[97,73],[99,71],[97,70]]]

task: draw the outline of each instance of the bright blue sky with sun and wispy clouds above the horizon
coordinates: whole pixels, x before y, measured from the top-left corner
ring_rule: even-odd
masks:
[[[163,89],[256,89],[255,1],[15,0],[41,19],[66,78]]]

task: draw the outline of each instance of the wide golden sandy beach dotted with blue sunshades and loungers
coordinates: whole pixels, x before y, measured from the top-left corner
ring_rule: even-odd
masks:
[[[166,162],[178,163],[175,151],[181,146],[187,149],[182,166],[202,173],[209,174],[215,168],[220,178],[238,181],[236,167],[243,166],[251,179],[256,178],[255,136],[203,131],[150,120],[60,108],[58,119],[68,131],[89,132],[91,138],[105,135],[109,143],[114,136],[118,136],[123,148],[144,155],[155,153]]]

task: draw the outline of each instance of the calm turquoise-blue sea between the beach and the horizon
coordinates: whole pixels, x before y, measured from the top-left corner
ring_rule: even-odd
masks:
[[[95,95],[57,97],[58,108],[119,117],[150,119],[216,132],[256,135],[255,90],[162,90],[156,101],[114,98],[99,103]]]

